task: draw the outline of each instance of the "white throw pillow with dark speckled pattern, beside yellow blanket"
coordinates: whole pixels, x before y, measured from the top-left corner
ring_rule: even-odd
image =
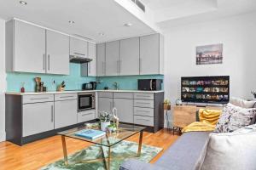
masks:
[[[241,127],[246,127],[255,122],[256,109],[245,109],[228,104],[224,107],[215,127],[215,133],[231,133]]]

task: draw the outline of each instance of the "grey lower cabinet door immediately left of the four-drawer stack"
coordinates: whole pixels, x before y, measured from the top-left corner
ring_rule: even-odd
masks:
[[[113,107],[117,108],[119,122],[133,123],[133,99],[113,99]]]

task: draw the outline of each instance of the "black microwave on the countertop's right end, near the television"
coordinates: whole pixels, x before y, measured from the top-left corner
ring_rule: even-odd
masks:
[[[161,79],[138,79],[138,90],[158,91],[162,89]]]

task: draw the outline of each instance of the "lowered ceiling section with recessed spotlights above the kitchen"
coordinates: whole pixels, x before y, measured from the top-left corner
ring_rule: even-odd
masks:
[[[154,30],[113,0],[0,0],[0,18],[20,20],[67,34],[79,34],[94,42],[136,37]],[[75,24],[69,24],[74,20]],[[133,26],[125,27],[125,23]],[[104,32],[100,36],[99,32]]]

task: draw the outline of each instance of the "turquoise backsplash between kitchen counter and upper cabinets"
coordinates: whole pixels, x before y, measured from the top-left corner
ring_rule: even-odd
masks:
[[[55,91],[62,81],[66,82],[66,90],[81,89],[85,82],[101,82],[97,85],[97,89],[108,88],[113,89],[113,82],[119,83],[119,89],[137,90],[137,79],[158,78],[164,79],[163,75],[147,75],[147,76],[121,76],[121,77],[81,77],[80,65],[70,63],[70,75],[46,75],[37,73],[24,72],[7,72],[7,91],[20,92],[20,88],[24,83],[26,92],[33,92],[35,89],[35,77],[41,77],[47,91]],[[54,83],[55,82],[55,83]],[[162,86],[163,89],[163,86]]]

